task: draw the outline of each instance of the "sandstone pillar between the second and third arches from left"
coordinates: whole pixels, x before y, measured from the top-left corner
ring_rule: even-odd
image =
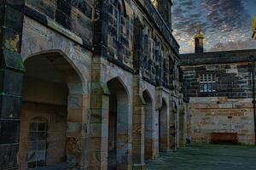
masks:
[[[145,113],[142,92],[140,90],[141,78],[136,75],[133,80],[133,136],[132,136],[132,158],[133,169],[145,169],[144,163],[144,127]]]

